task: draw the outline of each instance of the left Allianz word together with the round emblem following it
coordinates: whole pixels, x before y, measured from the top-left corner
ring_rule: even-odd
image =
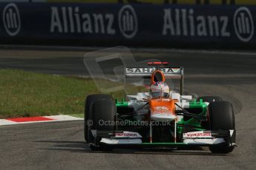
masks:
[[[85,33],[116,35],[116,25],[125,38],[137,34],[137,15],[131,5],[114,13],[82,13],[79,7],[51,7],[50,33]]]

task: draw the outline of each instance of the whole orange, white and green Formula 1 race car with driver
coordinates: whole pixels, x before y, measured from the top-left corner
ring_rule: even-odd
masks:
[[[183,95],[183,67],[149,62],[148,67],[126,67],[125,78],[149,78],[149,92],[114,101],[111,95],[88,95],[85,101],[85,140],[91,149],[117,146],[209,146],[227,154],[235,144],[233,106],[216,96]],[[180,79],[180,93],[165,78]]]

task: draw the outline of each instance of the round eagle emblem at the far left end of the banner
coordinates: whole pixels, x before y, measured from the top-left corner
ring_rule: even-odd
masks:
[[[16,4],[7,4],[3,10],[4,28],[8,35],[15,36],[21,29],[19,8]]]

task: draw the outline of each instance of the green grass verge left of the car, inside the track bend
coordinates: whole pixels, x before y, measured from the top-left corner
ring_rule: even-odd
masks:
[[[97,80],[113,86],[115,83]],[[128,85],[131,93],[142,87]],[[81,115],[85,97],[101,93],[91,78],[46,75],[13,69],[0,69],[0,118],[45,115]],[[123,98],[123,91],[108,93]]]

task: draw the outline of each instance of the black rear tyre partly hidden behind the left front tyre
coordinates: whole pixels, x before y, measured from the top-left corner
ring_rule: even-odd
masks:
[[[85,100],[85,112],[84,112],[84,134],[85,134],[85,141],[88,142],[88,120],[91,120],[93,118],[93,112],[92,112],[92,104],[94,101],[101,101],[101,100],[111,100],[111,95],[88,95]]]

